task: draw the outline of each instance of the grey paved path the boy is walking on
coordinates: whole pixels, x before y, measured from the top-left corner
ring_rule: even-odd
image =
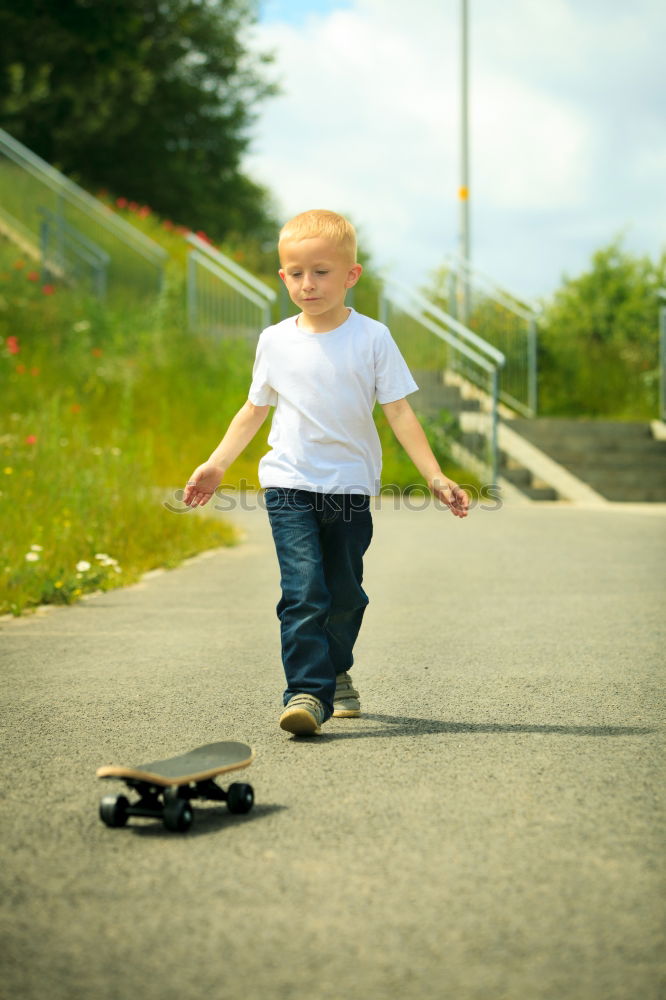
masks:
[[[2,996],[663,997],[663,513],[385,506],[366,714],[308,741],[234,516],[234,550],[2,625]],[[247,817],[99,822],[99,764],[233,737]]]

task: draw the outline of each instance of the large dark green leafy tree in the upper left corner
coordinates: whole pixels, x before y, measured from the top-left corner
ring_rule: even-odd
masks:
[[[93,189],[222,239],[274,226],[240,161],[270,61],[254,0],[0,0],[0,124]]]

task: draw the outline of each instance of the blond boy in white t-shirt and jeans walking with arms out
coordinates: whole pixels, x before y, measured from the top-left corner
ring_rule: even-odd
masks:
[[[261,334],[248,401],[193,472],[184,501],[208,503],[274,406],[259,481],[281,571],[280,726],[310,736],[331,715],[360,715],[349,670],[368,603],[370,496],[380,489],[375,399],[435,496],[456,517],[467,516],[469,500],[443,475],[405,398],[418,386],[388,329],[345,306],[362,270],[353,226],[334,212],[304,212],[282,228],[278,250],[280,278],[301,312]]]

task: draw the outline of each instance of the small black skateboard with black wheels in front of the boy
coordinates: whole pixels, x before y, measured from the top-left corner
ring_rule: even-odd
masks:
[[[254,751],[247,743],[226,742],[137,767],[100,767],[98,778],[120,778],[139,795],[135,802],[125,795],[105,795],[99,804],[100,819],[107,826],[125,826],[130,816],[148,816],[161,819],[167,830],[184,833],[194,821],[192,799],[226,802],[229,812],[247,813],[254,804],[252,785],[234,782],[225,790],[214,779],[249,767],[253,760]]]

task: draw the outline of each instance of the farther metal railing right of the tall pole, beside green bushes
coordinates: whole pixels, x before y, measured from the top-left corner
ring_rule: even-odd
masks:
[[[522,416],[536,416],[539,310],[460,257],[449,257],[446,266],[449,312],[506,358],[502,402]]]

